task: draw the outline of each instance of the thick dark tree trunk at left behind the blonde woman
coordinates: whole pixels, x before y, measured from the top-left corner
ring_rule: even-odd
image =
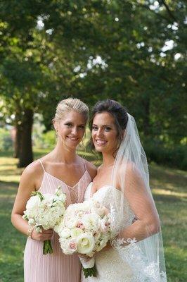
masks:
[[[32,154],[33,111],[25,109],[20,125],[20,149],[18,167],[25,167],[33,161]]]

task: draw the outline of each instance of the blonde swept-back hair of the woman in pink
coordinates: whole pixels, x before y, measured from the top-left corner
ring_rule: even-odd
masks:
[[[67,98],[58,103],[53,123],[60,121],[70,111],[77,111],[77,113],[82,114],[85,121],[89,118],[89,108],[84,102],[76,98]]]

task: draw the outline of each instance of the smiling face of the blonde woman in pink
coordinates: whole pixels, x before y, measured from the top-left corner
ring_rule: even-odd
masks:
[[[84,136],[86,120],[84,115],[76,111],[67,112],[60,121],[55,123],[58,140],[65,147],[75,149]]]

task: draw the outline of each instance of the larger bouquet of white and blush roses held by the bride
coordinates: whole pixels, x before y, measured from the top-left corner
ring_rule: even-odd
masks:
[[[93,255],[110,240],[110,213],[95,200],[70,204],[62,222],[54,228],[59,235],[60,247],[66,255],[78,252],[92,257],[89,262],[81,259],[84,276],[96,276]]]

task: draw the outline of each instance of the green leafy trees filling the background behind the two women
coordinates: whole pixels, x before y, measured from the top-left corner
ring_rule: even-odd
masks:
[[[34,114],[48,131],[72,96],[122,102],[149,159],[186,169],[186,23],[186,0],[2,0],[0,122],[16,128],[18,166]]]

